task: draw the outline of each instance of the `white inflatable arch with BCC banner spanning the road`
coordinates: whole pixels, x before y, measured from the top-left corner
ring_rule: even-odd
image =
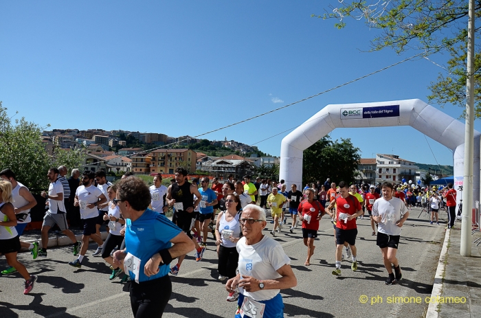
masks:
[[[327,105],[289,133],[280,146],[280,179],[302,185],[303,151],[335,128],[411,126],[453,150],[458,201],[465,163],[465,124],[422,100]],[[474,132],[473,203],[480,199],[480,133]]]

